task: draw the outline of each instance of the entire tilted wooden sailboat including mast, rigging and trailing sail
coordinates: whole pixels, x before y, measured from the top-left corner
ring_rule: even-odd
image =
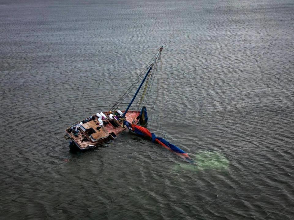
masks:
[[[141,124],[145,124],[148,121],[145,105],[147,103],[147,98],[150,95],[154,79],[157,79],[158,82],[158,79],[160,78],[160,76],[158,75],[157,67],[158,63],[160,62],[161,51],[162,47],[160,47],[155,56],[144,68],[137,79],[133,82],[126,93],[119,98],[119,100],[110,108],[109,111],[100,112],[96,115],[92,115],[89,118],[86,118],[83,121],[76,123],[65,130],[65,138],[70,138],[72,140],[70,144],[70,149],[84,151],[95,148],[97,146],[105,144],[111,139],[117,138],[120,133],[128,129],[141,137],[148,138],[153,143],[157,143],[164,148],[175,152],[177,155],[181,156],[189,163],[194,163],[194,161],[191,160],[191,158],[185,151],[183,151],[176,145],[169,143],[162,136],[157,137],[155,133],[152,133],[147,128],[137,125],[138,122],[140,122]],[[144,82],[144,90],[141,94],[141,99],[138,105],[138,109],[141,109],[141,111],[129,111],[130,106],[134,102]],[[123,112],[118,110],[118,107],[122,105],[123,100],[139,83],[140,85],[126,110]],[[158,84],[157,88],[159,88]],[[157,97],[156,99],[154,99],[155,101],[153,101],[153,109],[156,105]]]

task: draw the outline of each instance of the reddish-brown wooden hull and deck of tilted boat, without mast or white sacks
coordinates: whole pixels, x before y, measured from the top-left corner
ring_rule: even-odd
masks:
[[[103,112],[106,116],[109,116],[110,112]],[[126,113],[126,120],[129,123],[137,124],[137,117],[140,115],[139,111],[128,111]],[[73,151],[86,151],[89,149],[101,146],[121,134],[126,128],[123,126],[123,120],[105,119],[104,127],[99,126],[98,117],[92,116],[93,119],[87,123],[83,123],[79,128],[77,136],[71,131],[71,127],[65,130],[65,138],[71,139],[70,149]],[[84,119],[85,120],[85,119]],[[82,120],[82,122],[84,121]],[[77,124],[77,123],[76,123]],[[76,125],[75,124],[75,125]]]

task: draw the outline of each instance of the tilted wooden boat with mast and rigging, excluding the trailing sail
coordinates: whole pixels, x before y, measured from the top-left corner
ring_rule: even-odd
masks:
[[[158,78],[158,75],[156,75],[157,66],[160,61],[162,48],[163,47],[160,47],[151,61],[149,61],[149,64],[140,73],[126,93],[123,94],[123,96],[111,107],[109,111],[103,112],[105,117],[101,117],[97,113],[96,115],[92,115],[89,118],[75,123],[65,130],[66,134],[64,137],[72,140],[70,142],[71,150],[89,150],[117,138],[117,136],[127,128],[125,127],[124,122],[128,122],[133,125],[137,125],[139,121],[144,124],[147,123],[148,117],[146,107],[144,105],[147,102],[147,97],[149,96],[150,88],[153,85],[155,77],[157,76]],[[138,107],[138,109],[142,110],[129,111],[130,106],[134,102],[144,82],[145,86]],[[122,105],[122,101],[137,85],[139,85],[139,87],[126,110],[123,112],[118,111],[118,107]],[[116,116],[113,116],[113,114],[116,114]]]

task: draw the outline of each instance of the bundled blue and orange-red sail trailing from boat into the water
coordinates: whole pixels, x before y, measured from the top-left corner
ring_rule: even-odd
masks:
[[[188,162],[193,163],[193,160],[191,160],[191,158],[185,151],[169,143],[164,138],[156,137],[156,135],[154,133],[151,133],[147,128],[139,126],[139,125],[131,124],[128,121],[124,121],[123,124],[134,133],[139,134],[143,137],[150,138],[153,143],[158,143],[164,146],[166,149],[172,152],[175,152],[177,155],[181,156],[183,159],[187,160]]]

